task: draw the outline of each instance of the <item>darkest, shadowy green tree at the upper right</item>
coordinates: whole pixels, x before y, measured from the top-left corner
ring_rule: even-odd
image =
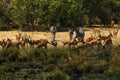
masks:
[[[111,19],[119,14],[119,3],[120,1],[118,0],[86,0],[84,7],[88,10],[89,26],[94,24],[96,21],[96,19],[94,19],[95,17],[100,19],[104,25],[111,24]],[[116,14],[116,12],[118,13]]]

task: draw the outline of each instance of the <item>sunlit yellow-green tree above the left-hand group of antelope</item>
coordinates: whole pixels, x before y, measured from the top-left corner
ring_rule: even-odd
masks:
[[[12,0],[11,13],[15,24],[21,27],[27,25],[34,30],[42,11],[39,0]]]

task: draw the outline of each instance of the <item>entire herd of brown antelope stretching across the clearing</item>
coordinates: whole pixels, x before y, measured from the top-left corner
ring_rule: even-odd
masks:
[[[88,37],[84,42],[81,42],[77,39],[72,40],[63,40],[63,46],[74,46],[75,48],[85,48],[85,47],[100,47],[103,48],[109,46],[112,44],[112,37],[117,37],[118,29],[108,31],[107,35],[101,35],[101,28],[94,28],[92,29],[92,35]],[[57,47],[57,41],[50,42],[48,39],[42,38],[38,40],[32,39],[30,35],[22,35],[22,33],[18,33],[15,36],[15,40],[12,39],[2,39],[0,40],[0,45],[3,49],[8,49],[10,47],[15,47],[19,49],[20,47],[34,47],[34,48],[47,48],[47,44],[50,44],[54,47]]]

